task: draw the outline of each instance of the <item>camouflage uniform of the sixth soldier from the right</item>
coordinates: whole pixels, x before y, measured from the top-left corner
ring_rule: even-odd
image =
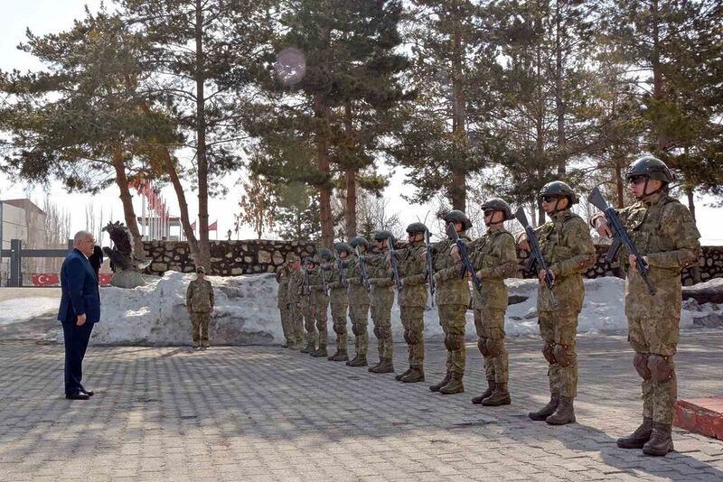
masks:
[[[371,285],[371,320],[377,337],[377,351],[380,359],[394,356],[394,342],[391,337],[391,306],[394,304],[394,281],[387,262],[389,251],[367,259],[367,274]]]

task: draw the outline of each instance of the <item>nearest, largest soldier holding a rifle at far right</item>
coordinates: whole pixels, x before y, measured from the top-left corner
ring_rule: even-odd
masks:
[[[681,270],[698,260],[700,233],[690,211],[669,196],[673,176],[664,162],[642,157],[630,164],[626,179],[637,202],[620,210],[620,220],[650,266],[648,277],[656,293],[647,291],[635,257],[623,247],[625,316],[635,350],[633,365],[643,378],[643,423],[618,439],[617,446],[662,456],[673,450],[671,424],[678,391],[673,357],[680,338]],[[600,235],[611,236],[602,213],[591,224]]]

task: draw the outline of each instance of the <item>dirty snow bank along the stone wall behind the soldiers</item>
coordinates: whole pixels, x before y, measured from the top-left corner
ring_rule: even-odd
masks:
[[[194,274],[169,272],[163,278],[150,278],[146,286],[133,290],[103,288],[102,319],[93,331],[92,341],[102,344],[189,345],[191,320],[185,309],[185,292]],[[211,316],[211,344],[279,344],[284,342],[277,309],[277,283],[273,274],[236,277],[207,277],[214,287],[216,310]],[[507,310],[505,330],[509,336],[537,336],[537,281],[507,280],[509,294],[518,300]],[[578,333],[622,333],[627,329],[624,316],[624,281],[606,277],[585,281],[586,296],[578,320]],[[55,301],[57,303],[57,301]],[[719,305],[697,305],[686,301],[681,328],[691,328],[694,320],[711,313]],[[333,344],[331,312],[328,332]],[[391,313],[396,341],[402,340],[396,302]],[[695,323],[700,326],[700,323]],[[705,325],[702,325],[705,326]],[[351,321],[348,324],[352,337]],[[369,323],[370,339],[373,325]],[[474,316],[467,311],[466,333],[475,338]],[[425,311],[425,337],[442,339],[437,308]],[[373,343],[373,341],[372,341]]]

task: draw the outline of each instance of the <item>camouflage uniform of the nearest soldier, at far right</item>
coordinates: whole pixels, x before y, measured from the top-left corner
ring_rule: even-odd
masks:
[[[619,256],[627,273],[628,339],[636,353],[665,357],[671,366],[665,381],[643,378],[643,415],[671,424],[678,396],[674,355],[680,340],[681,270],[698,261],[700,232],[690,210],[663,191],[621,209],[619,216],[638,253],[647,258],[648,277],[656,289],[654,295],[647,291],[623,246]]]

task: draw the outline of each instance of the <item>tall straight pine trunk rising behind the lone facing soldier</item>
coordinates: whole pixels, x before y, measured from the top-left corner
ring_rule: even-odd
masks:
[[[203,6],[202,0],[196,0],[195,18],[196,47],[196,159],[198,162],[198,220],[199,220],[199,257],[197,266],[211,273],[211,246],[209,242],[209,163],[206,152],[206,106],[205,106],[205,59],[203,52]]]

